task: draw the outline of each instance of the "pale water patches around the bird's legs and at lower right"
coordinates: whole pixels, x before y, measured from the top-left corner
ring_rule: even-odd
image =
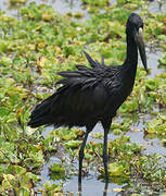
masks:
[[[118,118],[120,119],[120,118]],[[115,121],[122,121],[123,119],[118,120],[116,118]],[[144,122],[146,120],[151,119],[151,115],[146,114],[139,118],[138,122],[135,123],[132,125],[131,130],[135,131],[129,131],[127,132],[125,135],[126,136],[130,136],[130,142],[131,143],[136,143],[138,145],[142,145],[145,149],[143,150],[144,155],[148,154],[158,154],[158,155],[163,155],[165,156],[165,147],[163,147],[161,145],[161,140],[157,137],[154,137],[153,139],[146,139],[144,138],[144,133],[142,132],[143,127],[144,127]],[[46,128],[46,132],[43,132],[43,136],[46,136],[50,131],[54,130],[53,126],[49,126]],[[85,130],[85,128],[82,128]],[[93,128],[93,131],[90,133],[87,143],[89,142],[95,142],[95,143],[102,143],[103,139],[94,139],[91,137],[91,134],[93,133],[102,133],[103,134],[103,127],[101,125],[101,123],[98,123],[95,125],[95,127]],[[117,138],[118,136],[115,136],[113,133],[108,133],[108,140],[113,140],[115,138]],[[49,176],[49,170],[48,167],[50,166],[50,163],[55,163],[55,162],[61,162],[58,158],[52,157],[48,163],[44,163],[43,166],[43,170],[41,171],[41,179],[42,181],[40,182],[40,184],[43,184],[46,182],[50,182],[50,183],[55,183],[54,181],[50,180]],[[164,162],[164,160],[163,160]],[[78,161],[74,162],[75,170],[78,171]],[[97,195],[97,196],[101,196],[104,192],[104,186],[105,183],[102,182],[101,180],[98,180],[98,171],[97,169],[94,170],[89,170],[88,171],[88,175],[82,177],[82,196],[91,196],[91,194]],[[72,179],[66,180],[64,182],[64,188],[63,191],[65,193],[69,192],[69,193],[74,193],[76,194],[78,192],[78,177],[76,176],[72,176]],[[123,188],[125,187],[126,184],[123,185],[118,185],[117,183],[110,183],[108,184],[108,189],[107,189],[107,196],[108,195],[117,195],[117,192],[114,192],[115,188]]]

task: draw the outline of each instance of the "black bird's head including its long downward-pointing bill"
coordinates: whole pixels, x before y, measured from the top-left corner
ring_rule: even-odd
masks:
[[[145,48],[143,41],[143,21],[138,14],[131,13],[130,16],[128,17],[126,25],[126,33],[127,35],[130,35],[136,41],[141,56],[143,66],[148,72],[146,56],[145,56]]]

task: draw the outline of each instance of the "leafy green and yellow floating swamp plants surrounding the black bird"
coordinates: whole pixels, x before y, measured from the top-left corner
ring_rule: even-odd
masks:
[[[14,16],[0,10],[0,195],[77,194],[84,128],[30,128],[30,111],[55,90],[59,71],[88,66],[82,50],[99,61],[102,54],[107,65],[122,64],[125,24],[131,12],[139,12],[144,21],[149,74],[138,68],[133,91],[110,131],[110,194],[164,196],[166,2],[156,2],[158,9],[153,12],[155,1],[82,0],[80,12],[63,14],[48,1],[37,2],[9,0],[9,7],[16,10]],[[69,7],[72,2],[76,0],[64,3]],[[85,150],[82,183],[93,188],[94,179],[104,187],[102,138],[99,124]]]

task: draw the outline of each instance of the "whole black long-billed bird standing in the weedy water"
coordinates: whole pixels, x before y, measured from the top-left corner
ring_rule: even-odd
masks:
[[[105,179],[106,182],[108,181],[107,133],[117,109],[132,90],[138,64],[138,49],[144,69],[148,71],[142,29],[141,17],[131,13],[126,25],[127,58],[122,65],[105,66],[103,60],[99,63],[84,51],[91,69],[76,65],[77,71],[59,72],[64,77],[58,82],[62,86],[31,112],[28,122],[31,127],[50,124],[54,124],[55,127],[86,126],[79,150],[79,184],[81,184],[84,149],[88,134],[99,121],[104,128],[103,163]]]

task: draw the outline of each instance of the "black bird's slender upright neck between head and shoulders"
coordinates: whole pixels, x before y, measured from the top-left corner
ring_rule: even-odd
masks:
[[[138,64],[138,49],[135,39],[127,35],[127,58],[124,63],[126,69],[131,72],[132,75],[136,74]]]

